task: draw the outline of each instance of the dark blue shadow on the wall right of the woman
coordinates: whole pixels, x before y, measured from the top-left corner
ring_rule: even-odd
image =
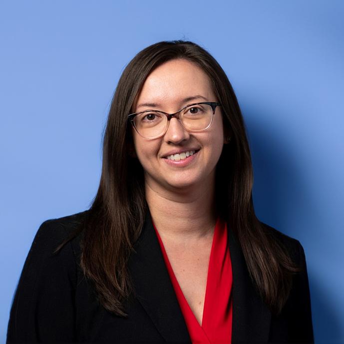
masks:
[[[312,198],[312,184],[300,168],[300,154],[294,154],[279,133],[273,132],[272,123],[264,125],[267,117],[275,116],[259,114],[254,109],[245,111],[254,167],[255,211],[261,221],[302,243],[310,281],[315,341],[339,344],[343,330],[338,314],[331,307],[333,286],[327,285],[330,281],[316,262],[320,252],[323,254],[317,245],[327,244],[322,241],[325,230],[320,205]]]

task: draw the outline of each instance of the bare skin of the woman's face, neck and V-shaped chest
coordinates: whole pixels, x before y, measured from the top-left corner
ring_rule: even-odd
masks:
[[[193,100],[184,101],[187,97]],[[148,75],[133,107],[174,113],[202,101],[218,101],[207,74],[185,59],[163,63]],[[145,105],[143,105],[145,104]],[[147,105],[149,104],[149,105]],[[155,106],[153,106],[155,104]],[[134,147],[145,176],[146,200],[181,290],[202,324],[215,212],[215,167],[224,144],[220,107],[203,132],[186,131],[172,118],[167,132],[145,139],[133,130]],[[182,163],[166,157],[196,151]]]

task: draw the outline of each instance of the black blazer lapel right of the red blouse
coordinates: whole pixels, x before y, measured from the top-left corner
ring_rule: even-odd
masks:
[[[238,239],[229,228],[233,273],[232,343],[267,343],[271,313],[252,284]]]

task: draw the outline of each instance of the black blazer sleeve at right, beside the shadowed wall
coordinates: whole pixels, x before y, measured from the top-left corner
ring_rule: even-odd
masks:
[[[295,275],[292,288],[291,306],[291,343],[314,343],[311,297],[308,282],[305,252],[298,243],[298,255],[301,272]]]

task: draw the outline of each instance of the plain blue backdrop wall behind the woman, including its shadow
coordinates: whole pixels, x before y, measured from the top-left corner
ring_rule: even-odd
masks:
[[[41,222],[85,210],[126,63],[190,39],[241,105],[260,219],[305,248],[317,343],[344,343],[344,1],[1,1],[0,342]]]

